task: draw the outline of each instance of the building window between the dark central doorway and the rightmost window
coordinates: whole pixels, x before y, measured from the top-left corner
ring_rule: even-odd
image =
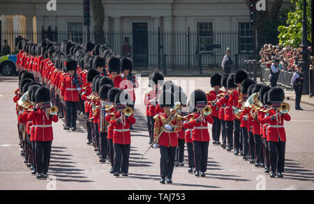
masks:
[[[198,52],[206,53],[213,49],[213,22],[197,22]]]

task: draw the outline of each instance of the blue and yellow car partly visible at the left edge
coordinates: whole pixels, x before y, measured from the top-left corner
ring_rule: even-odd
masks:
[[[16,75],[16,54],[9,54],[0,57],[0,72],[5,76]]]

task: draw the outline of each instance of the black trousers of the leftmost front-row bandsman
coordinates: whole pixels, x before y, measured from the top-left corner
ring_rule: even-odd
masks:
[[[47,173],[50,163],[52,141],[36,141],[36,163],[38,173]]]

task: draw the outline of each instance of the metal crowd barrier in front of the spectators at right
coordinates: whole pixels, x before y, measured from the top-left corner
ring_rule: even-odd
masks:
[[[266,65],[261,65],[261,78],[260,81],[264,82],[265,84],[270,84],[269,81],[269,74],[270,74],[270,68],[267,68]],[[291,79],[293,76],[293,72],[288,72],[285,70],[281,70],[279,73],[277,86],[282,86],[283,88],[293,90],[293,87],[291,86]]]

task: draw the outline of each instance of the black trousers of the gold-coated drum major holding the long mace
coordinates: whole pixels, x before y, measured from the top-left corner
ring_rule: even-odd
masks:
[[[167,148],[160,146],[160,176],[162,178],[172,179],[172,173],[174,168],[174,156],[176,154],[177,147]]]

